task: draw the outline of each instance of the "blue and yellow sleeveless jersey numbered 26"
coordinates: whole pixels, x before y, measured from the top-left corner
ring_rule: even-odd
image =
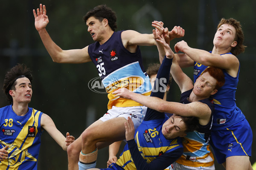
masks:
[[[135,130],[135,142],[137,143],[141,156],[147,163],[150,163],[164,153],[169,153],[182,147],[180,137],[168,140],[163,136],[162,126],[168,119],[169,117],[166,116],[165,119],[144,120],[137,130]],[[125,145],[116,164],[125,170],[136,170],[135,164],[131,159],[128,144]]]

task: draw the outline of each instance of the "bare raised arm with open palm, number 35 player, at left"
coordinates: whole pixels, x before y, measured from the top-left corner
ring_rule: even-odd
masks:
[[[33,9],[35,28],[38,31],[45,48],[54,62],[59,63],[84,63],[91,61],[88,54],[88,46],[83,49],[62,50],[49,36],[46,26],[49,23],[46,15],[46,7],[40,4],[40,8]]]

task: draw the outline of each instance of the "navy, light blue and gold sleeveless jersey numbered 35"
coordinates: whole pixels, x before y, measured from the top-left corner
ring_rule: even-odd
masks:
[[[112,106],[141,106],[131,99],[114,97],[113,91],[126,87],[129,90],[149,96],[151,84],[142,64],[139,46],[131,53],[122,44],[122,31],[114,32],[107,42],[95,42],[88,47],[91,60],[98,69],[99,77],[108,93],[108,109]]]

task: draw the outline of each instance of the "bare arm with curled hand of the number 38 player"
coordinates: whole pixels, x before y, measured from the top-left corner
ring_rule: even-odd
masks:
[[[66,137],[57,129],[54,122],[47,114],[42,114],[41,127],[46,130],[50,136],[62,147],[63,150],[67,150],[67,146],[75,141],[73,136],[67,132]]]

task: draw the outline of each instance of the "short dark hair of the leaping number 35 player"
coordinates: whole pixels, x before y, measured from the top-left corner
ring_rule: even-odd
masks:
[[[95,17],[97,20],[102,22],[105,19],[108,20],[108,25],[115,31],[116,26],[116,13],[106,5],[99,5],[91,9],[84,15],[83,20],[86,23],[88,18]]]

